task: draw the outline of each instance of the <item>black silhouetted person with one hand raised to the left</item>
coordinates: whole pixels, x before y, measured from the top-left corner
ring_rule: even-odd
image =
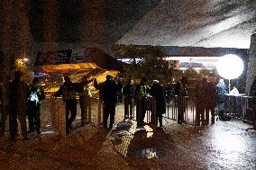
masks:
[[[114,125],[115,105],[117,103],[118,86],[114,82],[112,76],[110,75],[105,76],[105,82],[101,84],[97,84],[95,78],[94,86],[97,90],[99,90],[100,99],[102,99],[104,102],[103,128],[107,130],[107,120],[110,116],[109,129],[112,129]]]

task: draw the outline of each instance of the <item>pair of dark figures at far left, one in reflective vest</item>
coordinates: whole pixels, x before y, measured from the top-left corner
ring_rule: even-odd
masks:
[[[22,72],[14,72],[14,80],[8,85],[8,115],[10,139],[17,139],[18,121],[21,124],[23,139],[28,139],[28,133],[41,133],[40,105],[45,98],[43,89],[38,85],[39,79],[34,77],[32,84],[27,85],[22,79]],[[6,101],[5,101],[6,102]],[[29,130],[26,117],[28,116]],[[1,133],[5,132],[5,120],[1,120]]]

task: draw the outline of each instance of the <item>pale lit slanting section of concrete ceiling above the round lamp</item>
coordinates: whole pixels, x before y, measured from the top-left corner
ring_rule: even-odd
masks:
[[[179,47],[250,47],[256,0],[162,0],[117,41]]]

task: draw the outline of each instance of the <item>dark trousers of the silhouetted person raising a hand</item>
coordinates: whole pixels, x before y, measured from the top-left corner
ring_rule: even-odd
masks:
[[[107,129],[107,120],[110,116],[109,127],[112,128],[114,125],[114,115],[115,115],[115,103],[104,103],[103,111],[103,128]]]

